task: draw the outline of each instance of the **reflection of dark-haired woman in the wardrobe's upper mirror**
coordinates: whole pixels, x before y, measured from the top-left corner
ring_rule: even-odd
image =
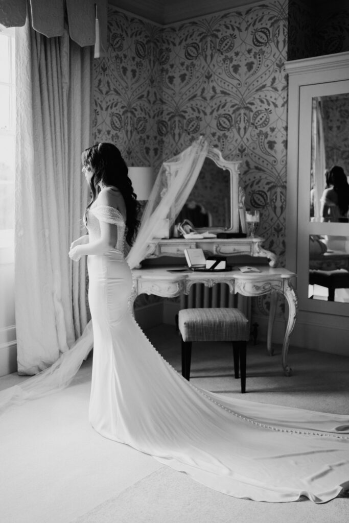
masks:
[[[349,210],[349,184],[344,170],[334,165],[326,174],[326,188],[321,197],[323,222],[347,222]]]

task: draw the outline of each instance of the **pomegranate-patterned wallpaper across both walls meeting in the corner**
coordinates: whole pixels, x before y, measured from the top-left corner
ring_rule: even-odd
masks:
[[[282,261],[287,4],[164,28],[110,8],[110,46],[95,66],[96,141],[116,143],[129,164],[158,169],[204,134],[223,157],[242,161],[246,204],[260,210],[258,234]]]

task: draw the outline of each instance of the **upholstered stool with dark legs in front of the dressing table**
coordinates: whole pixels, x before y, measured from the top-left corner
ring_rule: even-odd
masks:
[[[182,309],[178,314],[182,336],[182,376],[190,379],[192,342],[232,342],[235,378],[241,374],[241,392],[246,391],[246,342],[250,337],[249,320],[233,308]]]

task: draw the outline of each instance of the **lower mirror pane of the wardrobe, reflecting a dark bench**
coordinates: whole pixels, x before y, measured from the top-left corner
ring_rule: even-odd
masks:
[[[309,236],[308,297],[349,302],[349,236]]]

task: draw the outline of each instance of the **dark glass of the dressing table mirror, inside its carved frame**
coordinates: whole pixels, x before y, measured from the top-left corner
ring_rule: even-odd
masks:
[[[197,228],[231,229],[231,179],[228,169],[222,169],[206,157],[195,186],[176,223],[185,219]]]

